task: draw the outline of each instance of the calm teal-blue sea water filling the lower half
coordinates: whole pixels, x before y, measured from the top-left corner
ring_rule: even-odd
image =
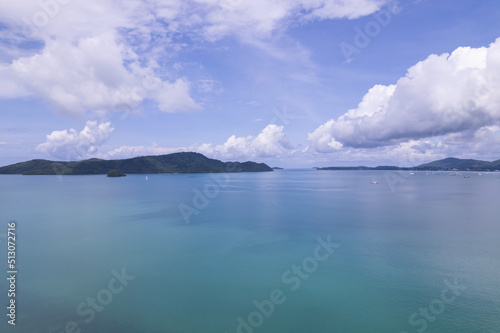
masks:
[[[2,175],[0,269],[15,220],[18,306],[0,331],[498,333],[499,176]],[[338,244],[323,261],[318,237]]]

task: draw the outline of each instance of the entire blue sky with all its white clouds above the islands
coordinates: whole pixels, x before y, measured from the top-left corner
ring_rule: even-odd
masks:
[[[500,159],[497,0],[0,0],[0,165]]]

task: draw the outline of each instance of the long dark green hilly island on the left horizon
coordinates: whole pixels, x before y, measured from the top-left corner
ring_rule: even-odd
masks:
[[[107,175],[121,173],[225,173],[273,171],[264,163],[222,162],[193,152],[141,156],[123,160],[92,158],[77,162],[31,160],[0,167],[0,174],[21,175]]]

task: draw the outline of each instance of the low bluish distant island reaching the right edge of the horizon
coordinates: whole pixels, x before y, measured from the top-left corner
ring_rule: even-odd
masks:
[[[500,160],[493,162],[445,158],[415,167],[397,167],[397,166],[377,166],[377,167],[326,167],[315,168],[316,170],[413,170],[413,171],[497,171],[500,169]]]

